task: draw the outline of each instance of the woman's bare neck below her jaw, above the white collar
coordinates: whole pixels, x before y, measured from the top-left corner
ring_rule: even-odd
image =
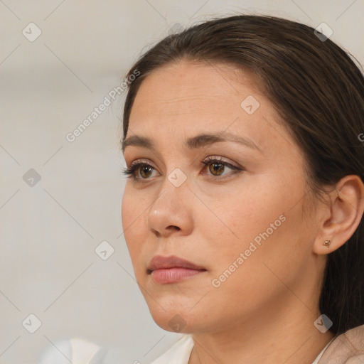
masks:
[[[220,331],[193,333],[188,364],[311,364],[334,335],[314,326],[318,309],[309,309],[296,297],[291,304],[281,311],[266,307],[259,310],[264,314],[235,320]]]

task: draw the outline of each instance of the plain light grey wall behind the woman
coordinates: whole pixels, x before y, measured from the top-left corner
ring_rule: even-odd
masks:
[[[65,135],[173,24],[239,11],[325,22],[363,63],[363,0],[0,0],[0,363],[37,363],[73,337],[109,348],[108,363],[149,363],[178,339],[151,319],[122,235],[122,97],[73,143]],[[114,247],[105,261],[103,240]],[[28,314],[42,323],[33,334]]]

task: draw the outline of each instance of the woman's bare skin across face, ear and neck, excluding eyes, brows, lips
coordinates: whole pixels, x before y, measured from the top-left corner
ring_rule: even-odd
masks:
[[[259,102],[252,114],[240,106],[249,95]],[[190,364],[311,364],[333,338],[314,326],[321,315],[321,277],[327,253],[346,242],[360,221],[363,183],[349,176],[337,190],[328,186],[326,200],[314,200],[304,214],[304,156],[277,118],[249,75],[237,79],[227,65],[186,60],[151,73],[134,101],[127,137],[148,137],[156,149],[124,151],[128,167],[138,160],[153,167],[149,175],[139,168],[139,179],[127,181],[124,237],[154,321],[168,331],[178,321],[179,332],[192,334]],[[197,149],[183,145],[210,132],[245,137],[260,151],[232,141]],[[208,156],[244,171],[223,166],[214,177],[213,164],[201,163]],[[186,176],[178,187],[168,179],[175,168]],[[346,199],[338,197],[340,191]],[[270,232],[279,216],[284,222],[213,287],[213,279],[255,237]],[[326,239],[332,240],[330,248],[323,246]],[[146,269],[155,255],[176,255],[206,272],[157,284]]]

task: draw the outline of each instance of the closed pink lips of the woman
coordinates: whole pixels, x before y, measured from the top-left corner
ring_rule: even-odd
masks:
[[[147,274],[157,284],[172,284],[181,282],[184,279],[196,277],[198,274],[206,272],[207,269],[200,267],[185,259],[175,256],[162,257],[156,255],[146,270]]]

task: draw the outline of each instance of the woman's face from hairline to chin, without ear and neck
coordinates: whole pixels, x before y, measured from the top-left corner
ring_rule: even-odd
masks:
[[[122,225],[162,328],[264,324],[318,305],[322,267],[312,252],[314,216],[303,217],[304,158],[275,119],[254,81],[226,65],[181,61],[141,83],[124,158],[143,165],[128,178]],[[201,270],[157,264],[151,273],[157,255]]]

